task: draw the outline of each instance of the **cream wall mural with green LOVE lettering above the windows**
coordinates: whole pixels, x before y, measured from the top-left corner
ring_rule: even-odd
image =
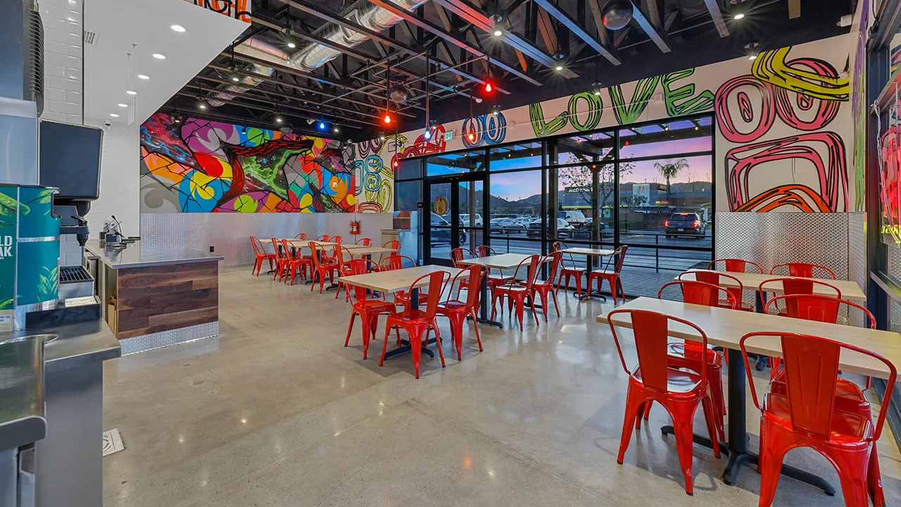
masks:
[[[359,143],[355,163],[380,180],[362,182],[358,198],[390,210],[378,189],[408,157],[708,112],[717,124],[717,211],[854,211],[862,175],[849,169],[848,66],[848,39],[839,36],[449,122],[428,140],[412,131]]]

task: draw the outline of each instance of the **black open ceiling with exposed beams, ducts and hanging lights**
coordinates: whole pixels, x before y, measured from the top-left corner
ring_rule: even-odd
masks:
[[[612,31],[601,21],[605,0],[426,0],[409,11],[422,0],[254,0],[248,29],[162,110],[357,141],[422,127],[426,80],[430,117],[446,122],[469,115],[470,91],[487,98],[476,114],[496,102],[522,106],[596,81],[610,86],[732,59],[751,40],[767,50],[847,33],[836,23],[854,9],[848,0],[735,1],[633,0],[632,22]],[[739,9],[746,16],[734,20]],[[378,21],[398,16],[378,30]],[[325,63],[314,58],[327,52],[323,45],[338,53]],[[300,54],[313,55],[305,64],[317,67],[292,63]],[[388,73],[408,98],[391,104],[386,127]],[[493,94],[484,92],[486,80]]]

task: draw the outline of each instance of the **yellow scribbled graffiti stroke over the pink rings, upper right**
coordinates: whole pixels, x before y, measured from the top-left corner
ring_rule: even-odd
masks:
[[[824,100],[848,100],[851,93],[849,78],[833,78],[816,72],[797,69],[787,64],[791,48],[763,51],[751,64],[751,74],[780,88],[786,88]]]

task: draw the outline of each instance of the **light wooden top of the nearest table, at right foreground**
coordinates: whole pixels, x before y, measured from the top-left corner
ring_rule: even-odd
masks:
[[[774,331],[803,333],[822,336],[882,355],[888,361],[901,364],[901,335],[893,331],[870,329],[869,327],[842,326],[800,318],[779,317],[765,313],[723,309],[705,305],[693,305],[682,301],[657,300],[654,298],[637,298],[616,309],[646,309],[658,311],[673,317],[684,318],[696,324],[707,335],[707,343],[714,346],[739,349],[738,342],[752,331]],[[607,314],[597,316],[597,321],[607,323]],[[614,324],[632,327],[628,316],[614,317]],[[692,327],[678,322],[669,323],[669,336],[699,341],[700,335]],[[755,336],[745,342],[748,352],[768,356],[782,355],[777,336]],[[877,359],[851,350],[842,350],[839,363],[842,370],[878,378],[888,378],[885,364]]]

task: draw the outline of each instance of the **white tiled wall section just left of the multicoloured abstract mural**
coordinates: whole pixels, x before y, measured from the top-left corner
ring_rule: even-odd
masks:
[[[88,120],[87,124],[104,128],[104,149],[100,163],[100,198],[91,204],[87,214],[91,237],[103,229],[104,222],[115,215],[122,222],[125,235],[139,235],[141,230],[141,126]]]

